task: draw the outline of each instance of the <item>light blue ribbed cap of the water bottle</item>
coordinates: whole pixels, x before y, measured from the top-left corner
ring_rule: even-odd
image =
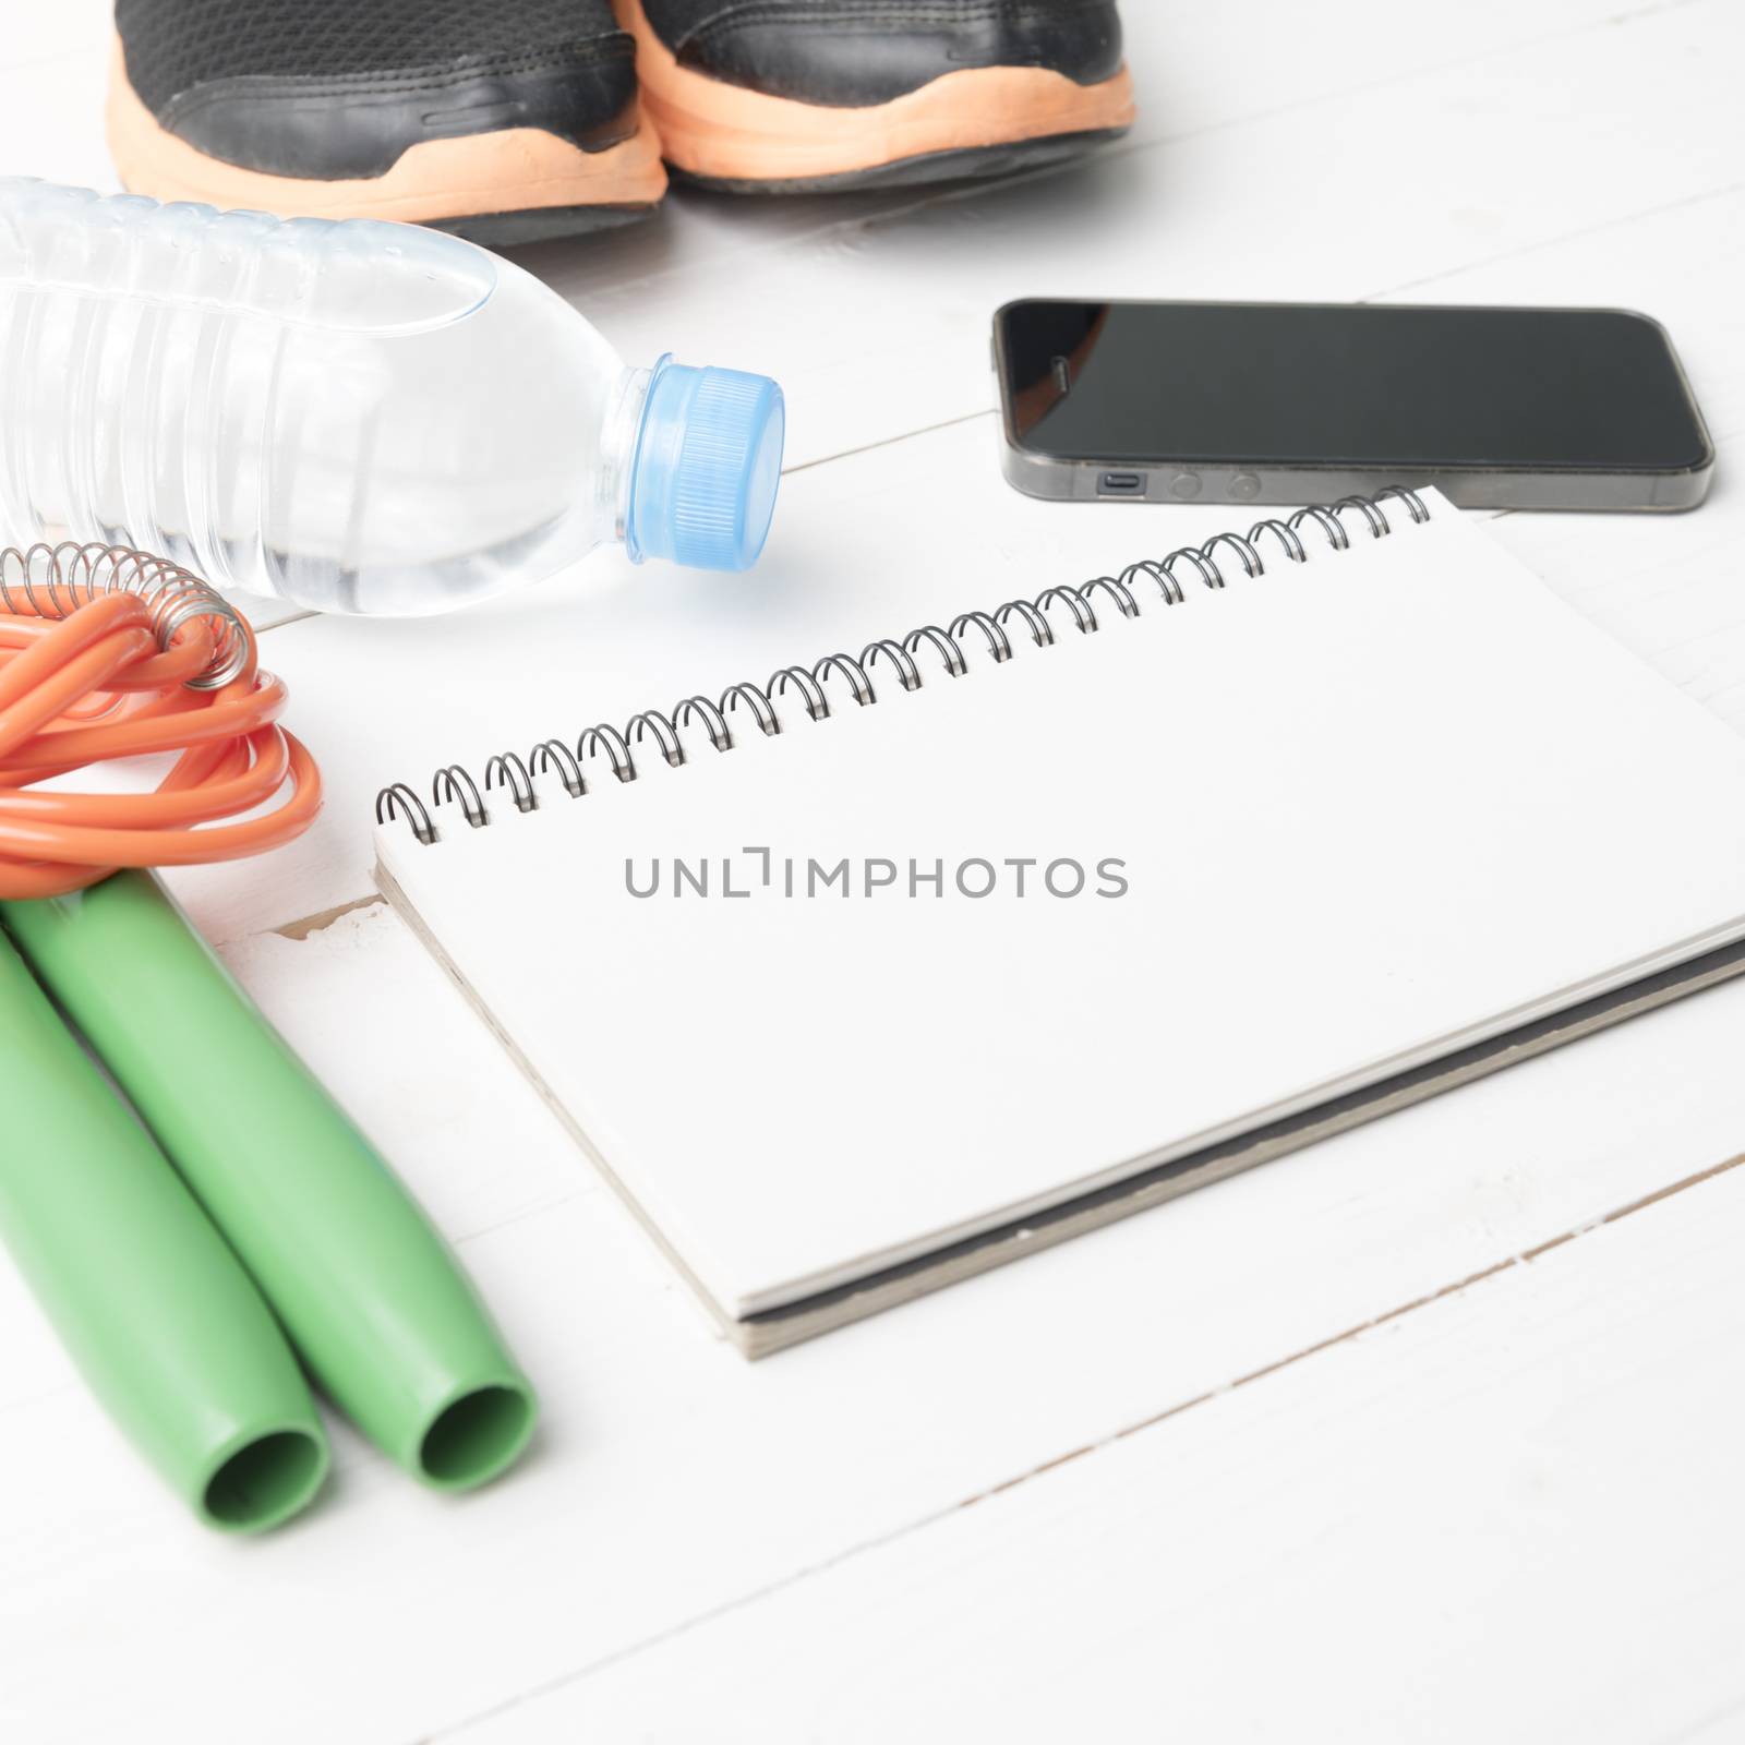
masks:
[[[782,483],[782,389],[768,375],[654,365],[625,544],[639,564],[750,569]]]

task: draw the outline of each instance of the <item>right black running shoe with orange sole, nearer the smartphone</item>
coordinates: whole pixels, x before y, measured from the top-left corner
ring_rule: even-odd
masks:
[[[618,0],[667,162],[738,194],[993,174],[1133,122],[1113,0]]]

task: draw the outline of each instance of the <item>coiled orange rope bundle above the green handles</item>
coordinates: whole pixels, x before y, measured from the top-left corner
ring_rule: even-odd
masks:
[[[3,564],[30,578],[31,560],[45,574],[7,586]],[[94,572],[106,579],[92,585]],[[166,572],[169,592],[126,592],[138,576],[161,588]],[[321,775],[276,724],[284,686],[258,670],[246,621],[204,583],[122,548],[37,546],[0,553],[0,897],[82,890],[117,867],[234,860],[309,827]],[[227,677],[201,689],[215,668]],[[150,752],[181,754],[152,792],[37,785]],[[270,811],[241,817],[276,796]]]

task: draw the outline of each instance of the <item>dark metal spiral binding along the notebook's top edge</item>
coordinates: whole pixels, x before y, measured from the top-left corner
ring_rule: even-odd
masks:
[[[1155,597],[1164,606],[1181,606],[1187,600],[1183,576],[1208,590],[1222,590],[1227,586],[1227,578],[1218,562],[1220,548],[1225,548],[1225,564],[1241,564],[1242,574],[1253,578],[1267,572],[1262,557],[1262,544],[1267,539],[1290,564],[1309,562],[1310,544],[1305,541],[1305,530],[1310,534],[1317,530],[1331,551],[1351,550],[1352,529],[1345,525],[1345,515],[1359,518],[1359,537],[1368,532],[1372,539],[1382,539],[1393,532],[1382,510],[1384,503],[1398,503],[1413,524],[1429,520],[1424,499],[1405,485],[1391,485],[1373,497],[1340,497],[1337,503],[1310,504],[1284,520],[1255,522],[1246,534],[1215,534],[1201,546],[1180,546],[1167,557],[1139,558],[1119,576],[1094,576],[1077,588],[1064,585],[1045,588],[1033,600],[1007,600],[995,612],[960,612],[949,628],[921,625],[900,639],[883,637],[869,642],[859,658],[825,654],[811,667],[780,667],[763,686],[749,681],[729,684],[715,701],[707,696],[688,696],[667,714],[646,708],[640,715],[632,715],[621,731],[600,722],[586,728],[574,745],[564,740],[543,740],[525,757],[517,752],[499,752],[485,766],[483,787],[461,764],[447,764],[431,780],[428,806],[405,782],[393,782],[375,796],[375,822],[387,824],[405,817],[421,843],[435,843],[440,836],[433,815],[436,808],[457,804],[461,817],[473,829],[480,829],[490,824],[485,796],[504,789],[517,811],[537,811],[539,789],[534,778],[548,771],[557,771],[564,792],[571,799],[579,799],[588,792],[592,768],[602,763],[619,782],[633,782],[640,773],[637,756],[642,747],[653,749],[661,761],[679,768],[688,761],[682,735],[693,722],[701,724],[717,752],[726,752],[735,747],[736,728],[756,726],[766,735],[784,731],[777,701],[790,693],[813,721],[827,721],[834,708],[846,701],[862,708],[879,701],[874,681],[883,679],[885,667],[904,691],[918,691],[927,682],[923,667],[930,668],[934,656],[946,677],[958,679],[968,672],[970,653],[979,651],[995,663],[1009,661],[1026,633],[1037,647],[1056,642],[1059,628],[1066,623],[1071,623],[1080,635],[1094,633],[1105,621],[1098,616],[1099,607],[1105,614],[1138,618],[1141,597],[1150,597],[1145,583],[1157,590]]]

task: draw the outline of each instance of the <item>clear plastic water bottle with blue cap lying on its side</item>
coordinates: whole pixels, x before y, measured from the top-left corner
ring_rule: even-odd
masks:
[[[0,522],[326,612],[441,612],[621,539],[747,569],[782,389],[625,368],[436,230],[0,178]]]

